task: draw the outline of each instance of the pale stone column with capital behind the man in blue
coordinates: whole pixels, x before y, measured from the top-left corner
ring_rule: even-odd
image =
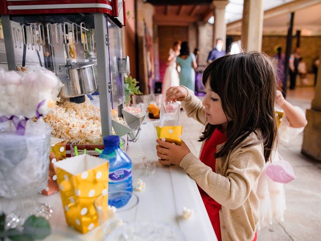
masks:
[[[225,7],[229,1],[213,1],[214,6],[214,46],[216,45],[216,39],[223,40],[223,49],[226,48],[226,23],[225,23]]]

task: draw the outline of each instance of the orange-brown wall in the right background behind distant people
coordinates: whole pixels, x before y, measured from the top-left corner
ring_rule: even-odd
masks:
[[[233,41],[239,40],[240,36],[231,36]],[[282,51],[285,52],[286,36],[263,36],[262,39],[262,52],[269,56],[273,56],[274,47],[280,45]],[[292,51],[296,46],[296,38],[293,37]],[[314,58],[317,58],[321,51],[321,36],[307,37],[302,36],[300,40],[300,50],[303,61],[306,63],[306,69],[308,72],[312,71],[312,63]]]

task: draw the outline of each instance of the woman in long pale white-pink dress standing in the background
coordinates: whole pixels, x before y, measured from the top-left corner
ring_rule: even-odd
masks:
[[[168,67],[166,68],[163,86],[162,86],[162,94],[165,95],[166,91],[172,86],[180,85],[180,77],[179,73],[176,69],[176,57],[180,55],[181,50],[181,41],[176,41],[173,45],[173,48],[170,49],[169,58],[167,60]]]

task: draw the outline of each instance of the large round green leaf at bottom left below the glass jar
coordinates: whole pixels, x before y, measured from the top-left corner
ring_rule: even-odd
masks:
[[[50,233],[50,224],[44,217],[32,215],[24,223],[24,234],[31,239],[44,239]]]

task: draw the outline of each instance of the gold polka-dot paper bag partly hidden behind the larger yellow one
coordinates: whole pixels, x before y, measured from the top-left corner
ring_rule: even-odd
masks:
[[[48,185],[41,191],[42,194],[47,196],[58,192],[59,190],[54,163],[66,159],[66,142],[63,139],[52,137],[50,139],[50,146]]]

